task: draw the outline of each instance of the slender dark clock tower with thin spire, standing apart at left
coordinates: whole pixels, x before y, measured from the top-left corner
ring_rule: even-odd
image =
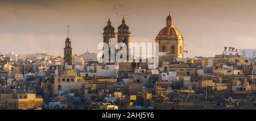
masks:
[[[68,26],[69,32],[69,26]],[[64,65],[73,65],[73,57],[72,57],[72,47],[71,47],[71,40],[69,37],[65,40],[65,48],[64,48]]]

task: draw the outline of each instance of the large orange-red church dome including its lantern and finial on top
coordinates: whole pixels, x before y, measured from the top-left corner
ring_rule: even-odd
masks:
[[[174,27],[174,24],[172,22],[172,16],[169,15],[166,18],[166,27],[162,28],[162,30],[159,31],[158,36],[177,36],[181,35],[180,31],[177,30],[177,28]]]

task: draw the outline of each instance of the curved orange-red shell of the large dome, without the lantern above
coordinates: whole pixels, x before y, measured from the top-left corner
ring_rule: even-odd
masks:
[[[159,31],[158,36],[161,36],[161,35],[176,36],[181,34],[180,34],[180,31],[177,30],[177,28],[168,26],[168,27],[162,28],[162,30]]]

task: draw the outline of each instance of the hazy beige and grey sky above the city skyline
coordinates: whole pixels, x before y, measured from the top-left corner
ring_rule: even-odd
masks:
[[[131,41],[154,42],[169,11],[185,56],[214,56],[225,46],[256,49],[255,6],[255,0],[0,0],[0,52],[35,53],[36,46],[62,56],[68,24],[73,54],[98,52],[108,18],[117,28],[123,16]]]

